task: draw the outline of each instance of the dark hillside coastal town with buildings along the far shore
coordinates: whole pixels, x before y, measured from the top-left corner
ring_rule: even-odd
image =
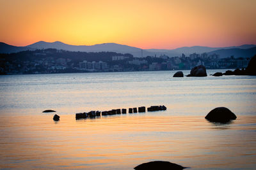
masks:
[[[129,53],[68,52],[49,48],[0,54],[0,74],[161,71],[191,69],[198,65],[207,69],[232,69],[246,67],[249,61],[250,56],[220,58],[215,53],[133,57]]]

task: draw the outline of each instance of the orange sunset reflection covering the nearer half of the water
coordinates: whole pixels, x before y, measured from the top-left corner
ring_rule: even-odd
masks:
[[[60,122],[49,114],[4,116],[0,167],[132,169],[167,160],[191,169],[253,169],[255,129],[255,116],[239,116],[225,125],[204,117],[148,113],[84,120],[61,115]]]

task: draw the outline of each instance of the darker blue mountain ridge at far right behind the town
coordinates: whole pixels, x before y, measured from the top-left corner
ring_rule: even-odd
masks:
[[[209,52],[208,54],[213,54],[216,53],[220,55],[220,58],[227,58],[230,56],[234,56],[235,58],[237,57],[252,57],[253,55],[256,54],[256,46],[248,49],[241,49],[241,48],[230,48],[230,49],[221,49],[221,50],[215,50],[212,52]]]

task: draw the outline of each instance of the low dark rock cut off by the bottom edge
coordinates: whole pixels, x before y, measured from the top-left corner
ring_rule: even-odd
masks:
[[[152,162],[147,162],[147,163],[143,163],[140,164],[139,166],[134,167],[134,169],[136,170],[148,170],[148,169],[161,169],[161,170],[181,170],[184,169],[186,167],[180,166],[178,164],[173,164],[172,162],[167,162],[167,161],[152,161]]]

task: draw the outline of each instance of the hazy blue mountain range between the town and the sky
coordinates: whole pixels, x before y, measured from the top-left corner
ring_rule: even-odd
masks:
[[[98,45],[67,45],[61,43],[60,41],[55,41],[53,43],[47,43],[45,41],[38,41],[28,46],[12,46],[6,43],[0,43],[0,53],[13,53],[20,52],[24,50],[36,50],[36,49],[46,49],[46,48],[56,48],[58,50],[67,50],[75,52],[116,52],[116,53],[131,53],[134,57],[147,57],[160,55],[168,55],[169,57],[176,57],[184,53],[188,56],[191,53],[217,53],[220,58],[230,57],[252,57],[256,54],[256,45],[241,45],[241,46],[228,46],[228,47],[208,47],[208,46],[184,46],[180,48],[175,48],[173,50],[166,49],[141,49],[133,46],[120,45],[116,43],[103,43]]]

